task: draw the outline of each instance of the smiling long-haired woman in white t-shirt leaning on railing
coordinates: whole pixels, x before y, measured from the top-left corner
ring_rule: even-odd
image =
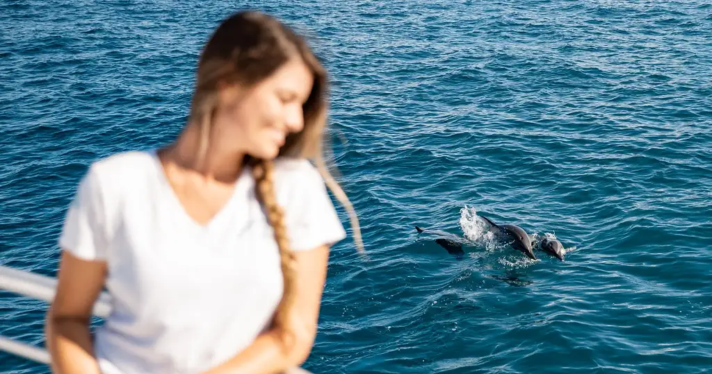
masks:
[[[55,373],[278,373],[315,337],[328,250],[345,237],[325,182],[327,82],[263,14],[216,29],[184,131],[95,161],[68,209],[46,340]],[[307,161],[315,160],[318,168]],[[106,287],[112,312],[92,339]]]

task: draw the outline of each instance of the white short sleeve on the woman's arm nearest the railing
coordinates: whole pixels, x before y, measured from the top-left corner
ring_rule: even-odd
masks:
[[[106,259],[104,206],[94,167],[79,182],[71,201],[59,237],[61,250],[66,250],[83,260]]]

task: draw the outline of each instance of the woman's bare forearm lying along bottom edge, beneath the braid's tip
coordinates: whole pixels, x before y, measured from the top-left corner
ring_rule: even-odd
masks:
[[[271,329],[250,346],[205,374],[275,374],[301,365],[311,351],[310,341],[294,341],[287,348],[282,335]]]

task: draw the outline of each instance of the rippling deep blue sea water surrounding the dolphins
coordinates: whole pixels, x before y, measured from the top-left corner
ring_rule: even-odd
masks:
[[[0,265],[56,274],[88,164],[172,140],[201,46],[244,8],[328,68],[370,256],[333,248],[305,368],[709,372],[708,1],[2,0]],[[476,215],[557,237],[565,261],[525,260]],[[414,225],[478,244],[458,260]],[[45,310],[0,293],[0,333],[42,346]],[[48,372],[5,353],[0,371]]]

